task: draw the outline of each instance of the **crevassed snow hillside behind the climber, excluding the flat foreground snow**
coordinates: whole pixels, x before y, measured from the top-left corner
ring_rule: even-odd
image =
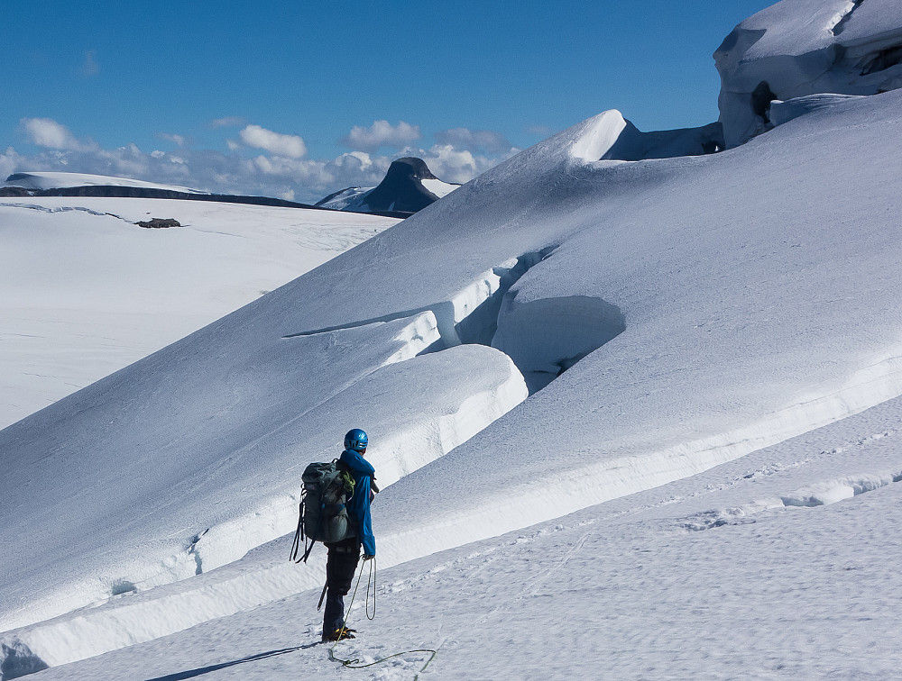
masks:
[[[316,586],[318,573],[283,564],[284,542],[234,570],[207,573],[204,556],[222,565],[290,531],[300,468],[335,451],[351,423],[371,429],[377,470],[398,470],[399,451],[434,452],[419,463],[440,455],[419,413],[423,395],[453,410],[481,375],[502,395],[503,362],[487,356],[472,374],[446,377],[436,360],[473,362],[458,354],[466,346],[409,359],[389,367],[404,369],[403,390],[391,373],[381,388],[384,369],[374,369],[411,339],[406,357],[437,333],[449,345],[491,337],[492,314],[499,330],[520,330],[502,339],[531,335],[522,371],[589,354],[384,493],[375,522],[385,567],[698,473],[899,395],[900,161],[886,143],[899,99],[842,101],[736,150],[638,163],[591,160],[622,129],[619,114],[602,114],[6,429],[15,473],[3,504],[15,520],[4,533],[15,551],[4,558],[5,625],[198,567],[204,574],[176,589],[196,599],[193,614],[171,617],[170,628]],[[487,297],[505,286],[501,299]],[[475,328],[455,328],[465,318]],[[420,320],[432,331],[405,331]],[[569,332],[587,324],[594,339]],[[496,344],[518,355],[508,340]],[[511,395],[496,414],[521,397]],[[97,467],[123,451],[128,465],[97,481]],[[43,482],[51,470],[65,483]],[[107,486],[127,494],[104,495]],[[73,505],[83,513],[69,518],[61,508]],[[65,522],[42,527],[40,541],[19,539],[57,506]],[[126,603],[137,614],[125,620],[146,622],[142,604],[156,595],[144,593]],[[161,587],[157,600],[171,603],[171,593]],[[96,612],[101,620],[64,618],[19,640],[52,658],[46,632],[95,626],[106,617]],[[142,639],[114,621],[120,639]]]

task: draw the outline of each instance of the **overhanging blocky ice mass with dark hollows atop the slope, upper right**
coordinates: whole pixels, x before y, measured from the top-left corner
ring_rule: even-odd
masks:
[[[771,100],[902,87],[896,0],[783,0],[740,23],[714,52],[724,137],[734,147],[776,124]]]

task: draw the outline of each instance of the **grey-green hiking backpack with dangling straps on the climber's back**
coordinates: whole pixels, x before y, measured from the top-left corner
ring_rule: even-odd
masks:
[[[307,562],[317,541],[334,543],[357,534],[345,508],[345,502],[354,494],[354,478],[338,459],[309,464],[301,479],[304,489],[300,493],[298,529],[290,554],[296,563]],[[301,540],[304,553],[298,558]]]

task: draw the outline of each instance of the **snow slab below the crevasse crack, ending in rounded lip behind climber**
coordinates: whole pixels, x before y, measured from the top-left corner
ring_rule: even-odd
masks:
[[[4,554],[5,627],[103,600],[124,580],[190,577],[289,531],[303,467],[340,452],[342,433],[320,423],[365,422],[391,484],[527,395],[497,350],[400,361],[438,339],[430,313],[287,339],[242,325],[218,323],[0,432],[5,532],[27,544]],[[189,365],[178,380],[167,370]],[[37,541],[35,514],[53,518]],[[47,561],[52,588],[32,569]]]

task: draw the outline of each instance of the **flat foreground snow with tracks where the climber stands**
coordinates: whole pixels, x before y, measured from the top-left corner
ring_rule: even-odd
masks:
[[[893,400],[667,486],[396,567],[381,561],[376,620],[358,593],[361,637],[336,654],[437,649],[420,678],[443,679],[892,678],[902,547],[888,511],[902,486],[861,471],[900,467],[900,413]],[[886,484],[825,507],[731,513],[818,481],[878,478]],[[148,679],[226,662],[238,664],[209,677],[337,677],[320,647],[240,662],[317,640],[318,595],[312,587],[35,678]],[[410,678],[426,657],[355,675]]]

